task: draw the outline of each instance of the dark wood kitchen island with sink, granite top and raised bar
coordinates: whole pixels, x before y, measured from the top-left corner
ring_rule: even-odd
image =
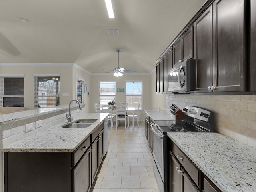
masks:
[[[1,122],[3,136],[26,136],[2,147],[4,192],[90,190],[108,146],[108,113],[73,109],[72,122],[66,120],[66,106],[12,114]],[[85,128],[63,127],[78,120],[93,123]]]

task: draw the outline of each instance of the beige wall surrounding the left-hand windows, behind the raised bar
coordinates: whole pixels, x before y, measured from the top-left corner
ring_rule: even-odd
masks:
[[[70,66],[0,66],[0,74],[24,74],[24,107],[34,109],[34,76],[33,74],[60,74],[60,105],[68,104],[76,95],[76,74],[90,82],[90,75],[86,72]],[[73,86],[74,85],[74,86]],[[68,93],[69,96],[62,96]],[[88,96],[85,96],[85,103]]]

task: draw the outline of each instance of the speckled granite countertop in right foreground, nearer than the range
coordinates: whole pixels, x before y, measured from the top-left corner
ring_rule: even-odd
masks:
[[[256,148],[218,133],[167,136],[222,192],[256,191]]]

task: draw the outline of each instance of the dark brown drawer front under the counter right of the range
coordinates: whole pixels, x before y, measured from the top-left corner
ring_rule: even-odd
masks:
[[[192,180],[200,188],[201,187],[200,169],[198,169],[173,142],[171,142],[170,147],[171,147],[171,152],[178,159],[178,162],[180,162],[180,164],[184,167],[184,169],[190,175]]]

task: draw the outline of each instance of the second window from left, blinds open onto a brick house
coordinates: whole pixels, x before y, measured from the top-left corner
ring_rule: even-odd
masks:
[[[34,108],[60,105],[60,76],[34,75]]]

